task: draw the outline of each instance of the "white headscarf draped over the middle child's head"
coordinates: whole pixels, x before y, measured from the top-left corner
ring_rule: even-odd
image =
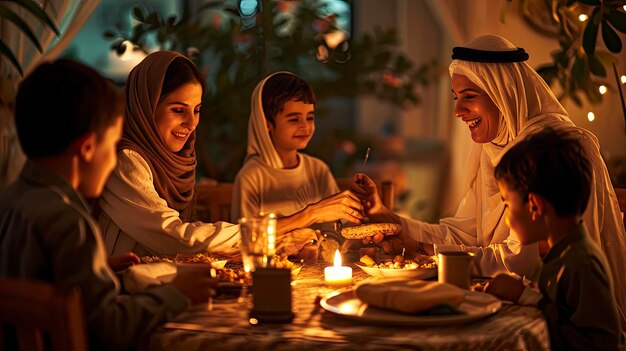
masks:
[[[257,84],[252,93],[250,119],[248,121],[248,149],[246,161],[251,157],[258,157],[263,164],[275,169],[283,168],[283,161],[278,156],[269,134],[268,122],[263,112],[263,87],[265,82],[277,74],[291,74],[287,71],[279,71],[270,74]]]

